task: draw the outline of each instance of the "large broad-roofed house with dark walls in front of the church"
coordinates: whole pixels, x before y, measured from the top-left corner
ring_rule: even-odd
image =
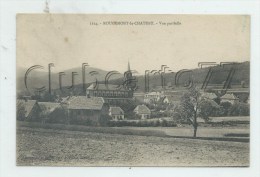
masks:
[[[108,116],[108,105],[102,97],[71,96],[62,102],[68,111],[70,122],[99,125],[103,116]]]

